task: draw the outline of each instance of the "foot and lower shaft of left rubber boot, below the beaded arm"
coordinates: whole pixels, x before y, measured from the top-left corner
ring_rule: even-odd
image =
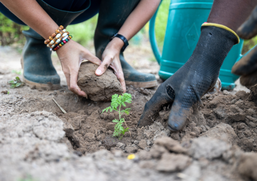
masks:
[[[51,51],[45,46],[44,38],[31,28],[22,33],[26,37],[21,59],[24,82],[37,89],[59,89],[60,77],[53,67]]]

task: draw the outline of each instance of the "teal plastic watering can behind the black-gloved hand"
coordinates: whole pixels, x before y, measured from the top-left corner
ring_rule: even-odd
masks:
[[[193,53],[200,36],[201,25],[207,21],[213,0],[171,0],[162,55],[157,46],[154,22],[150,20],[149,35],[153,53],[160,64],[159,76],[166,80],[173,75]],[[243,40],[228,53],[219,72],[222,89],[231,90],[239,76],[231,73],[232,66],[241,57]]]

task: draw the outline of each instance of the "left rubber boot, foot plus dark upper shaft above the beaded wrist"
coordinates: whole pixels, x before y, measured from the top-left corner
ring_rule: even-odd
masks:
[[[68,12],[56,9],[42,0],[36,0],[39,5],[59,26],[66,27],[78,15],[86,11],[90,6],[78,12]],[[26,43],[22,50],[22,68],[24,82],[36,89],[55,90],[60,88],[60,77],[53,67],[51,51],[44,44],[44,38],[30,28],[22,31],[26,37]],[[50,36],[50,35],[49,35]]]

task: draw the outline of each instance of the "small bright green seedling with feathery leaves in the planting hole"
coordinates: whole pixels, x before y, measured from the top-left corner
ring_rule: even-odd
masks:
[[[105,108],[104,110],[103,110],[103,112],[104,111],[108,111],[108,110],[110,110],[110,112],[112,112],[113,110],[115,110],[115,111],[118,111],[119,112],[119,116],[120,116],[120,120],[117,120],[117,119],[114,119],[113,120],[113,122],[115,122],[116,123],[116,125],[115,125],[115,127],[114,127],[114,132],[113,132],[113,136],[116,136],[116,137],[118,137],[118,139],[119,140],[121,140],[121,138],[123,137],[123,135],[124,135],[124,133],[126,132],[126,131],[129,131],[128,129],[128,127],[127,127],[127,124],[126,124],[126,122],[125,122],[125,120],[124,120],[124,118],[121,118],[121,115],[123,114],[123,113],[125,113],[125,114],[129,114],[130,112],[130,109],[131,108],[126,108],[125,110],[121,110],[121,106],[124,106],[124,107],[126,107],[126,104],[125,104],[125,102],[127,102],[127,103],[131,103],[131,101],[132,101],[132,99],[131,99],[131,94],[128,94],[128,93],[124,93],[124,94],[122,94],[122,95],[118,95],[118,94],[114,94],[114,95],[112,95],[112,101],[111,101],[111,106],[110,107],[108,107],[108,108]],[[118,106],[120,106],[119,107],[119,109],[117,110],[117,107]],[[102,113],[103,113],[102,112]],[[122,126],[122,123],[125,123],[125,125],[126,125],[126,129]],[[129,131],[129,133],[130,133],[130,131]],[[130,133],[130,136],[131,136],[131,133]]]

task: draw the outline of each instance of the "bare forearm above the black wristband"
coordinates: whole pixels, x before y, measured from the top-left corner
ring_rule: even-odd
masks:
[[[118,31],[130,40],[150,20],[161,0],[141,0]]]

